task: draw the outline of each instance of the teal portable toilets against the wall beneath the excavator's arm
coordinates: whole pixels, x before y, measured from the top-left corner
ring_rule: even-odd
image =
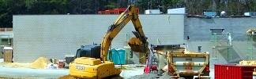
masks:
[[[113,61],[115,64],[126,63],[126,51],[122,48],[112,48],[111,52],[107,54],[107,59]]]

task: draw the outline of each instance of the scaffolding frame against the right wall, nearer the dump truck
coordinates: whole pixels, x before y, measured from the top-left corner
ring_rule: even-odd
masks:
[[[218,60],[220,57],[220,48],[226,48],[227,51],[224,52],[225,56],[227,56],[227,62],[232,59],[232,37],[231,34],[224,34],[224,29],[210,29],[211,32],[211,41],[212,41],[212,57],[214,60]]]

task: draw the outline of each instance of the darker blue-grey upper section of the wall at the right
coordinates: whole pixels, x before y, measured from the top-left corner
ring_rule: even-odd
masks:
[[[191,41],[209,41],[210,29],[216,28],[223,28],[224,34],[232,33],[234,41],[247,41],[246,31],[256,27],[254,17],[212,19],[189,17],[185,21],[185,36],[190,36]]]

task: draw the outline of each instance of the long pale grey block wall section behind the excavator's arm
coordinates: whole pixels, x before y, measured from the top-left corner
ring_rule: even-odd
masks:
[[[40,56],[62,59],[75,54],[81,45],[100,41],[117,15],[13,16],[14,62],[32,62]],[[140,15],[151,44],[183,43],[184,15]],[[122,48],[134,35],[132,23],[118,34],[112,48]],[[158,39],[158,41],[157,41]]]

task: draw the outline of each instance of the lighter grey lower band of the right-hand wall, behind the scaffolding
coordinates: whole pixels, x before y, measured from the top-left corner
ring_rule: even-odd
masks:
[[[216,63],[239,63],[239,61],[243,59],[256,59],[255,49],[249,49],[251,48],[251,42],[233,41],[233,45],[229,48],[226,47],[226,41],[221,41],[218,45],[220,45],[220,43],[223,47],[214,46],[213,44],[215,43],[213,43],[213,41],[190,41],[188,43],[188,49],[197,52],[198,46],[202,46],[202,52],[209,52],[211,67]],[[255,45],[255,43],[253,43],[253,45]]]

